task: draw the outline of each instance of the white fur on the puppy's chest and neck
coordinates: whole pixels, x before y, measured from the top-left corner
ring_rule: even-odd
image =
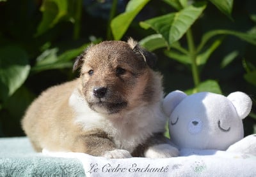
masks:
[[[102,115],[91,110],[79,91],[74,90],[69,105],[76,114],[74,124],[81,124],[84,131],[102,129],[113,138],[116,148],[129,152],[154,132],[163,132],[166,123],[161,103],[146,104],[122,114]]]

